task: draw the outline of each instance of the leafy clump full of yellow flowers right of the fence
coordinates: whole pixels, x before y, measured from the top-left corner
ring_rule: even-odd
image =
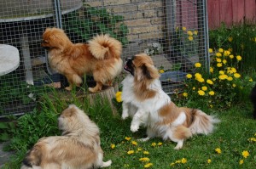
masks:
[[[209,108],[229,108],[240,100],[243,90],[249,91],[253,86],[253,79],[249,76],[241,76],[238,73],[238,65],[241,56],[219,48],[212,53],[210,72],[195,64],[195,73],[187,74],[183,97],[186,99],[204,100]]]

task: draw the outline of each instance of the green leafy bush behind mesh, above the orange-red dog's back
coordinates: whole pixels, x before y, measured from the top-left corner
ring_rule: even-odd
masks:
[[[67,20],[63,22],[65,30],[74,32],[84,41],[90,40],[96,34],[109,34],[122,42],[124,47],[128,44],[128,27],[123,22],[124,16],[113,15],[108,13],[106,8],[94,8],[89,5],[85,5],[80,11],[83,14],[67,14]]]

